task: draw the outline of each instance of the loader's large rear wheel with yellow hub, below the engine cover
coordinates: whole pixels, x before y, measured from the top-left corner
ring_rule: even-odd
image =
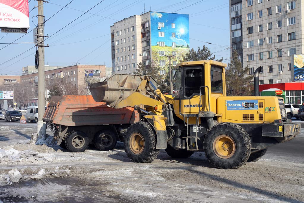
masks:
[[[214,125],[204,139],[206,158],[219,169],[237,169],[248,160],[251,141],[241,126],[229,122]]]

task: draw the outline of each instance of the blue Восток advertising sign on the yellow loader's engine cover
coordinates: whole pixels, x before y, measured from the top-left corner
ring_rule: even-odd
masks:
[[[226,100],[227,110],[257,110],[257,100]]]

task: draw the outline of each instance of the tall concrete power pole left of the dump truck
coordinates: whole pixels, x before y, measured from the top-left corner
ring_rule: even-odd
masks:
[[[39,138],[45,138],[46,124],[42,121],[43,114],[45,112],[45,83],[44,83],[44,16],[43,16],[43,0],[37,0],[38,2],[38,36],[37,47],[39,55],[38,66],[38,123],[37,134]]]

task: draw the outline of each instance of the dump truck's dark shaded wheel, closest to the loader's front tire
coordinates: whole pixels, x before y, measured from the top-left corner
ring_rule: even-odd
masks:
[[[111,131],[99,131],[94,137],[94,145],[101,151],[112,150],[116,145],[116,136]]]

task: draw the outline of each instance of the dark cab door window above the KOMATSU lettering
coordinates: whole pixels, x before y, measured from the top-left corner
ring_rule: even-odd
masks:
[[[185,97],[199,95],[199,89],[204,86],[204,77],[201,67],[192,67],[185,69]],[[204,90],[201,90],[204,95]]]

